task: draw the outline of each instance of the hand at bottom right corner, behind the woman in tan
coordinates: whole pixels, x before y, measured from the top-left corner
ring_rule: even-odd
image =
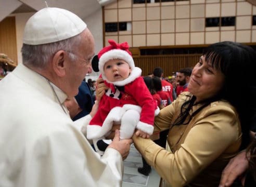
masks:
[[[248,160],[246,151],[242,151],[231,159],[225,169],[222,171],[219,187],[231,186],[234,180],[241,176],[248,169]]]

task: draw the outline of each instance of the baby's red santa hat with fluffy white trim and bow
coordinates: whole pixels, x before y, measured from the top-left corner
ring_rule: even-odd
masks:
[[[99,66],[99,71],[107,82],[107,78],[104,73],[104,65],[107,61],[112,60],[112,59],[122,59],[125,62],[127,62],[131,68],[131,75],[133,77],[134,73],[136,72],[136,77],[138,72],[141,70],[134,65],[133,57],[131,51],[129,51],[129,45],[127,42],[124,42],[122,44],[118,44],[112,39],[108,40],[108,43],[110,44],[109,46],[104,47],[101,49],[98,53],[98,66]],[[135,72],[134,72],[135,71]],[[134,78],[136,78],[134,77]],[[109,82],[110,83],[110,82]]]

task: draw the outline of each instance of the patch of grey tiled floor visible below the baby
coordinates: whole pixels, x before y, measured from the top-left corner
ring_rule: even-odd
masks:
[[[152,168],[149,176],[144,176],[137,171],[137,168],[141,166],[142,157],[135,149],[134,145],[132,145],[130,154],[124,161],[123,187],[159,186],[160,177],[158,173]]]

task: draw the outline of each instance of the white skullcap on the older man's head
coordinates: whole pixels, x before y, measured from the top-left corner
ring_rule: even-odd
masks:
[[[85,29],[86,23],[72,12],[61,8],[43,8],[27,21],[23,43],[40,45],[58,42]]]

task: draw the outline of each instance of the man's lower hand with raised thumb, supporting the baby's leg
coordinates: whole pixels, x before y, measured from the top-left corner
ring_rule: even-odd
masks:
[[[129,155],[132,139],[120,140],[120,131],[116,130],[113,141],[109,144],[108,148],[117,150],[123,160]]]

